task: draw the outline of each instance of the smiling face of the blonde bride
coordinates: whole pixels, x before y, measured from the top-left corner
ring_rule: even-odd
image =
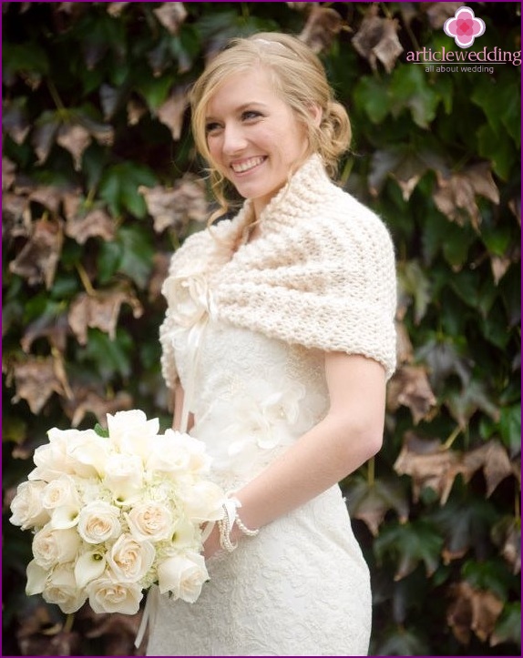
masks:
[[[287,182],[307,147],[306,129],[272,88],[262,67],[227,79],[206,112],[207,145],[213,164],[256,217]]]

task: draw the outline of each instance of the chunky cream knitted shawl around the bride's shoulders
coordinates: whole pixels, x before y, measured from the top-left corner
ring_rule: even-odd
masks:
[[[260,236],[241,244],[250,218],[246,201],[235,218],[187,238],[171,260],[160,329],[168,386],[178,378],[173,337],[207,312],[307,348],[364,355],[390,378],[395,257],[381,219],[336,187],[318,156],[263,210]]]

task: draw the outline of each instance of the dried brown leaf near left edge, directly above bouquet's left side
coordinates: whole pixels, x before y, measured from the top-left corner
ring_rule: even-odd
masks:
[[[40,413],[53,393],[67,397],[67,380],[57,359],[34,357],[15,362],[12,369],[16,390],[12,401],[26,400],[32,413]]]

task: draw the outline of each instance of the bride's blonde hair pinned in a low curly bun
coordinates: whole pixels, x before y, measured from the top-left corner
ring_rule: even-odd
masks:
[[[276,32],[232,39],[229,46],[210,61],[190,92],[192,133],[196,147],[210,166],[210,185],[221,211],[229,208],[227,180],[210,157],[206,110],[220,85],[253,66],[263,66],[270,73],[276,93],[306,128],[308,148],[305,157],[318,153],[330,177],[335,177],[338,159],[351,141],[349,116],[344,106],[334,99],[323,64],[309,46],[295,36]],[[312,106],[322,111],[319,126],[314,122]]]

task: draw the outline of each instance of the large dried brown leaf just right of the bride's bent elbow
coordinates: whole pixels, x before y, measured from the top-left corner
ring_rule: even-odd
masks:
[[[444,504],[459,472],[459,462],[460,454],[445,448],[439,440],[424,440],[407,432],[394,469],[398,475],[412,478],[414,501],[419,500],[422,489],[429,487]]]

